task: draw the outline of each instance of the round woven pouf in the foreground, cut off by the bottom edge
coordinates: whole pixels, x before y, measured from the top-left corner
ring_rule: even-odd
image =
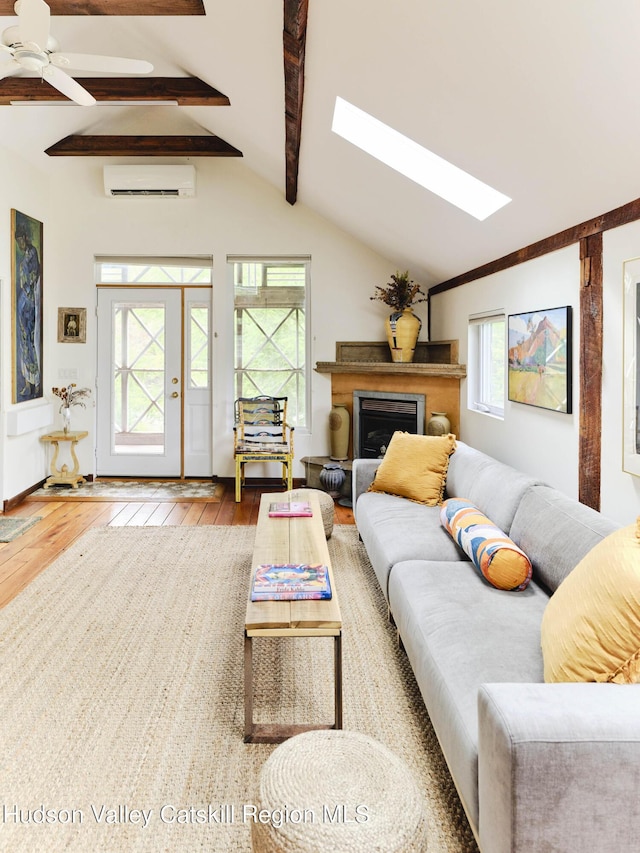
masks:
[[[358,732],[296,735],[263,765],[254,853],[423,853],[427,825],[411,771]]]

